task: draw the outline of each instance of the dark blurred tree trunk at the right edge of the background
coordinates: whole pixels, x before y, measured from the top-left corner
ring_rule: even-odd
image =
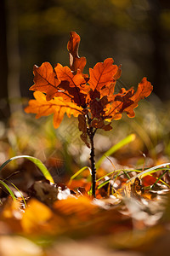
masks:
[[[151,7],[151,30],[154,43],[153,53],[153,75],[154,92],[161,100],[170,98],[170,74],[168,72],[167,61],[167,33],[163,31],[161,25],[161,10],[169,9],[169,1],[150,0]]]

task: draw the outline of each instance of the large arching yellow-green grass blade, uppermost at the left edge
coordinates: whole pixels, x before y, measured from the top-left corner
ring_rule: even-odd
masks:
[[[40,171],[42,172],[43,176],[48,179],[51,183],[54,183],[54,179],[53,177],[51,176],[51,174],[48,172],[48,169],[46,168],[46,166],[44,166],[42,164],[42,161],[41,160],[38,160],[36,157],[33,157],[33,156],[30,156],[30,155],[17,155],[17,156],[14,156],[8,160],[6,160],[2,166],[0,166],[0,172],[1,170],[3,169],[4,166],[7,166],[8,163],[12,160],[17,160],[19,158],[26,158],[28,160],[31,160],[31,162],[33,162],[39,169]]]

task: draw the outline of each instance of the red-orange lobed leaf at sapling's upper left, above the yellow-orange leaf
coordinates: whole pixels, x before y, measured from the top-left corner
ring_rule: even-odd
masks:
[[[30,90],[39,90],[47,94],[47,100],[51,100],[57,92],[60,84],[50,63],[44,62],[41,67],[33,67],[34,83]]]

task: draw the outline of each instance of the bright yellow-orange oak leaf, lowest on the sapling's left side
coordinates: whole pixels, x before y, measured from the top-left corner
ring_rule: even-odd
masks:
[[[34,92],[35,100],[30,100],[25,108],[26,113],[37,113],[36,118],[48,116],[54,113],[54,128],[58,128],[65,113],[68,117],[71,114],[75,117],[82,113],[82,108],[72,102],[65,102],[62,97],[54,97],[51,101],[46,101],[46,96],[41,91]]]

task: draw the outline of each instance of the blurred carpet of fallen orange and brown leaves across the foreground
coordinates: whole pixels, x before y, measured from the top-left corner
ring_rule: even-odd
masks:
[[[103,250],[109,248],[105,255],[110,255],[111,248],[149,252],[152,244],[169,232],[169,189],[159,183],[159,188],[145,192],[138,177],[134,183],[126,183],[127,178],[122,176],[119,179],[119,189],[112,189],[110,180],[110,186],[107,183],[97,190],[96,199],[88,195],[85,189],[89,188],[88,182],[83,181],[82,187],[81,179],[71,188],[48,180],[33,183],[27,191],[27,207],[19,194],[16,201],[10,196],[3,198],[0,242],[9,235],[15,235],[16,239],[26,237],[32,242],[42,242],[38,248],[43,248],[47,253],[44,255],[50,255],[48,251],[52,247],[54,250],[58,240],[60,247],[65,239],[68,244],[75,241],[75,245],[79,241],[88,242],[90,247],[89,237],[92,237],[102,240]],[[48,245],[43,245],[45,241]],[[101,245],[94,242],[93,247],[97,252]]]

